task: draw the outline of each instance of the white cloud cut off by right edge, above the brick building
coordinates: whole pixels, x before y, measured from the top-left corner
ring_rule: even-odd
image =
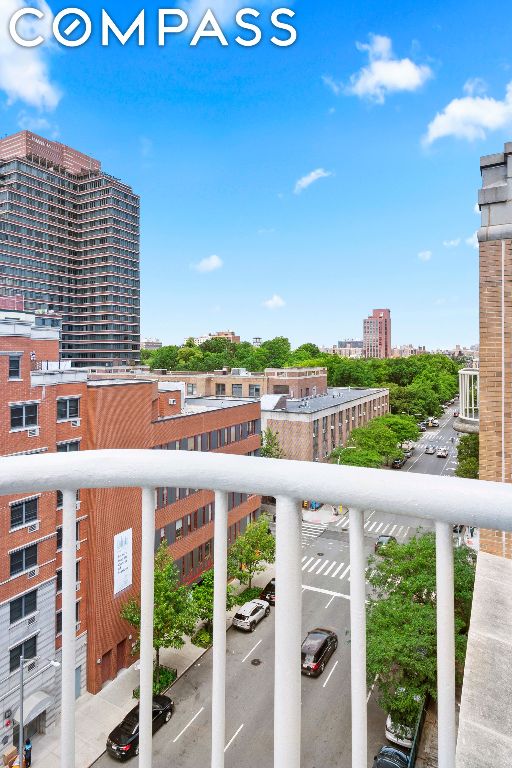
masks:
[[[465,88],[468,95],[452,99],[429,123],[423,139],[425,144],[433,144],[445,136],[468,141],[485,139],[489,131],[512,126],[512,82],[507,85],[502,101],[482,95],[481,90],[471,95],[467,85]]]

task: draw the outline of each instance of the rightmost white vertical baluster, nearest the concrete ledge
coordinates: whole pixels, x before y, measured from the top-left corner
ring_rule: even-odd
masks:
[[[439,768],[455,768],[455,616],[453,534],[436,522],[437,719]]]

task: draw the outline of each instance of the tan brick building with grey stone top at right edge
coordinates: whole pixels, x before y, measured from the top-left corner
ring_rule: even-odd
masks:
[[[480,160],[480,479],[512,481],[512,142]],[[512,557],[512,535],[481,531],[481,548]]]

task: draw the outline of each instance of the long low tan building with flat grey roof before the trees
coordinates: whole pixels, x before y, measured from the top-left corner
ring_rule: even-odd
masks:
[[[299,400],[285,395],[261,399],[261,428],[277,433],[286,459],[326,461],[346,445],[356,427],[389,411],[389,390],[336,387]]]

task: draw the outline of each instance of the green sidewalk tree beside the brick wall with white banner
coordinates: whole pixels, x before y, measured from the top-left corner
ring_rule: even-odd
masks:
[[[156,651],[155,681],[158,684],[161,648],[182,648],[197,622],[196,605],[190,587],[180,583],[178,569],[165,539],[155,553],[155,607],[153,648]],[[121,617],[140,632],[140,598],[132,598],[121,608]],[[140,647],[137,639],[134,651]]]

